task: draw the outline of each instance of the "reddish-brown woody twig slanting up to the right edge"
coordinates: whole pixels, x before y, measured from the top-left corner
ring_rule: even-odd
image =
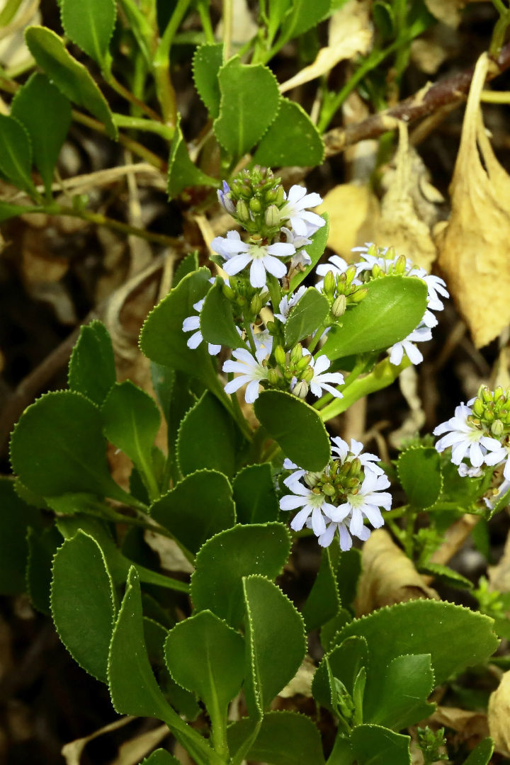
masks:
[[[487,80],[493,80],[510,67],[510,43],[502,47],[497,61],[492,63]],[[362,122],[347,125],[346,128],[333,128],[323,135],[326,145],[326,157],[332,157],[344,151],[365,138],[377,138],[378,135],[395,130],[398,122],[408,124],[416,119],[434,114],[438,109],[452,103],[462,103],[469,91],[473,79],[474,67],[446,77],[437,83],[428,83],[424,88],[414,93],[414,96],[404,99],[385,112],[378,112]]]

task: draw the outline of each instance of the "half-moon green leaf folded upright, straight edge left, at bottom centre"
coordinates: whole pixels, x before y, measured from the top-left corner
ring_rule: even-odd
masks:
[[[246,617],[245,699],[257,718],[290,682],[307,651],[303,617],[263,576],[242,578]]]

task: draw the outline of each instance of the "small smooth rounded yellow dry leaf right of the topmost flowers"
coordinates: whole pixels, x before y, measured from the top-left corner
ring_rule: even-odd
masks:
[[[328,191],[315,212],[328,213],[327,246],[349,260],[352,259],[352,247],[373,239],[378,200],[369,184],[341,184]]]

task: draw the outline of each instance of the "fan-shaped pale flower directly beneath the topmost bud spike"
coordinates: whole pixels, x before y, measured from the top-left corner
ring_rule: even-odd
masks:
[[[229,232],[231,233],[231,232]],[[227,239],[222,236],[216,236],[211,243],[211,248],[220,256],[226,259],[223,269],[233,276],[245,268],[249,262],[250,283],[252,287],[264,287],[266,282],[266,272],[269,272],[278,279],[284,277],[287,273],[287,266],[278,260],[278,258],[289,258],[296,252],[294,245],[285,242],[277,242],[270,245],[247,244],[242,242],[239,234],[229,236]]]

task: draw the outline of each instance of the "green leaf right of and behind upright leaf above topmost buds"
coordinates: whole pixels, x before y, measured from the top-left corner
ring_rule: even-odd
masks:
[[[281,98],[278,115],[262,136],[253,161],[272,168],[314,168],[323,158],[323,140],[307,112],[298,103]]]

